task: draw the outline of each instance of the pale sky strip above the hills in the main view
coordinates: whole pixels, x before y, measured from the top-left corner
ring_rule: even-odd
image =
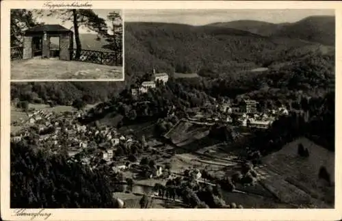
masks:
[[[207,25],[237,20],[293,23],[307,16],[334,16],[334,10],[124,10],[124,21]]]

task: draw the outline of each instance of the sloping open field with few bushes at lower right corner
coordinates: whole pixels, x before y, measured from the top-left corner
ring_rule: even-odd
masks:
[[[298,155],[300,143],[308,148],[308,158]],[[282,201],[320,208],[334,203],[334,185],[329,187],[318,178],[320,166],[325,166],[334,183],[334,153],[299,138],[262,161],[263,166],[257,168],[261,182]]]

